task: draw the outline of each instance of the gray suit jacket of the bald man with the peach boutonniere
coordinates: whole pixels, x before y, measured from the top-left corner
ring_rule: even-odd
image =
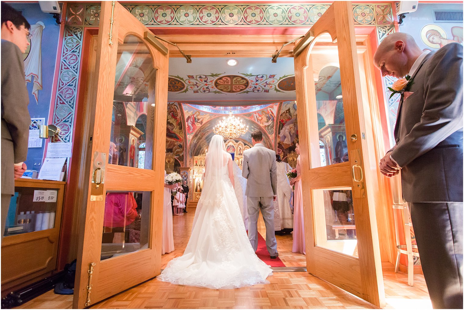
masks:
[[[463,201],[463,46],[428,54],[398,107],[391,156],[407,202]]]

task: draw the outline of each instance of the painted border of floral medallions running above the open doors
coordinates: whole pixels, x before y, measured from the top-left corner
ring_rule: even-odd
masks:
[[[146,26],[306,26],[330,6],[325,4],[200,4],[122,3]],[[100,22],[100,5],[85,5],[85,26]],[[390,3],[353,4],[357,25],[393,24]]]

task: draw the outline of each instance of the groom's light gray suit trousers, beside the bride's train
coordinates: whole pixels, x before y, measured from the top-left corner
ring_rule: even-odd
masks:
[[[277,255],[277,240],[274,231],[274,205],[273,197],[250,197],[247,196],[248,207],[248,239],[251,247],[256,252],[258,249],[258,216],[259,210],[263,214],[264,225],[266,226],[266,247],[269,255]]]

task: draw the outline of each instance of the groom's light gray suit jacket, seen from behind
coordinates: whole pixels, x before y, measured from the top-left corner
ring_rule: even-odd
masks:
[[[245,195],[271,197],[277,194],[276,152],[257,143],[243,152],[242,176],[246,182]]]

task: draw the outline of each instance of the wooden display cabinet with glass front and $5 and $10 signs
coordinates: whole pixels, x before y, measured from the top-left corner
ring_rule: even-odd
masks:
[[[2,296],[52,275],[61,229],[65,182],[19,179],[14,185],[1,243]]]

